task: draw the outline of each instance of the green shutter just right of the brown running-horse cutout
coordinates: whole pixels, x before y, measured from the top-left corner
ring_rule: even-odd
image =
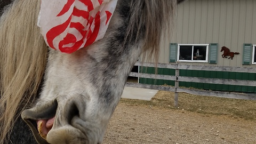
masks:
[[[243,49],[243,65],[251,65],[252,63],[252,44],[244,44]]]

